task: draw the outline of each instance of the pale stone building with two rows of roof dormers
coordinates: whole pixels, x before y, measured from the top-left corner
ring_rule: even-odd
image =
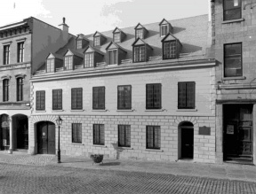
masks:
[[[215,162],[208,16],[77,35],[31,79],[29,152]]]

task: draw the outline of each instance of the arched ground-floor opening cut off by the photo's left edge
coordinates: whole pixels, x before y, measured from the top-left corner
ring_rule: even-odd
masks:
[[[1,150],[9,150],[10,147],[10,120],[7,114],[1,115],[1,133],[0,133],[0,147]]]

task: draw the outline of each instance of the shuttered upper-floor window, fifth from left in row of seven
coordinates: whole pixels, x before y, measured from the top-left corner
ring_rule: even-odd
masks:
[[[132,109],[132,86],[117,86],[117,109]]]

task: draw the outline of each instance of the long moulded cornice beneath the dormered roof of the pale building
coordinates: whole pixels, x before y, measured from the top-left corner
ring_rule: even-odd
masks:
[[[145,72],[156,72],[156,71],[166,71],[175,69],[188,69],[188,68],[202,68],[216,66],[215,59],[206,58],[191,61],[180,61],[180,62],[162,62],[154,64],[132,64],[132,65],[119,65],[119,66],[106,66],[106,67],[95,67],[95,68],[84,68],[63,71],[58,73],[45,73],[34,75],[30,81],[50,81],[50,80],[60,80],[60,79],[76,79],[80,77],[92,77],[92,76],[104,76],[113,74],[134,74],[134,73],[145,73]]]

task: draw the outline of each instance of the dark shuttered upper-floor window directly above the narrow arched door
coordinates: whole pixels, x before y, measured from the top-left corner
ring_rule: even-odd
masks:
[[[178,82],[178,109],[194,109],[196,82]]]

